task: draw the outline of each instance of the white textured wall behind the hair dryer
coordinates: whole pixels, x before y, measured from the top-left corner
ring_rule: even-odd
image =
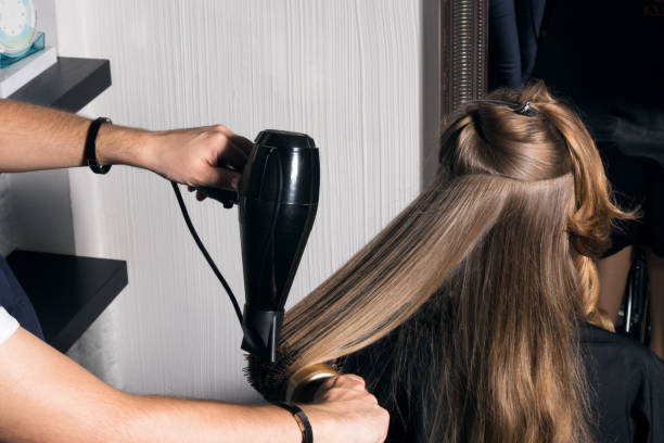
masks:
[[[431,99],[422,91],[425,3],[433,4],[59,0],[60,52],[111,60],[113,87],[89,115],[151,129],[224,123],[251,138],[264,128],[314,137],[321,201],[292,305],[419,190],[422,109]],[[128,262],[129,287],[105,314],[115,384],[255,398],[243,380],[230,303],[189,237],[169,185],[127,167],[69,176],[77,251]],[[243,303],[235,210],[187,202]]]

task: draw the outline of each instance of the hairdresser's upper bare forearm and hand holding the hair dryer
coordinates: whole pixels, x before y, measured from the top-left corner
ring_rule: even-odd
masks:
[[[81,166],[89,127],[89,119],[74,114],[0,100],[0,172]],[[95,147],[101,165],[138,166],[189,186],[237,190],[237,170],[253,144],[222,125],[148,131],[104,124]]]

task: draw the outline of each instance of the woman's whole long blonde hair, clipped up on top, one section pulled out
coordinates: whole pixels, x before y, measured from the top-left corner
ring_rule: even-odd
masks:
[[[448,119],[433,183],[286,313],[282,376],[392,332],[390,379],[426,403],[426,441],[587,442],[577,322],[610,327],[592,260],[631,214],[544,84],[487,99]],[[413,352],[427,357],[409,376]]]

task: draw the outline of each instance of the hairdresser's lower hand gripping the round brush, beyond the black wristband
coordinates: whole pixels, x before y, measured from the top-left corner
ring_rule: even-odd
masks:
[[[332,377],[320,387],[314,404],[301,407],[317,443],[380,443],[387,436],[390,415],[367,392],[361,377]]]

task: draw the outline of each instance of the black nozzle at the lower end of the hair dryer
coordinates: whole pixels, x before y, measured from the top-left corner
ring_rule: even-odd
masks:
[[[264,311],[244,305],[242,349],[264,360],[277,362],[277,345],[283,311]]]

